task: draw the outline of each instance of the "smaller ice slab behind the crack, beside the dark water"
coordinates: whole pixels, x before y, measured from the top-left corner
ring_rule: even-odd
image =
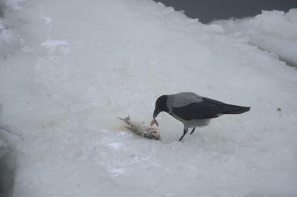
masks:
[[[280,60],[297,66],[297,8],[283,11],[263,11],[245,19],[218,20],[226,33],[246,39],[252,45],[275,53]]]

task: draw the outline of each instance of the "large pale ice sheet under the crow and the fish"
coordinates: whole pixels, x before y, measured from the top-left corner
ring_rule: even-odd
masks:
[[[0,60],[15,197],[297,195],[296,68],[153,1],[15,5]],[[164,113],[162,141],[116,119],[148,122],[159,95],[180,91],[252,109],[184,143]]]

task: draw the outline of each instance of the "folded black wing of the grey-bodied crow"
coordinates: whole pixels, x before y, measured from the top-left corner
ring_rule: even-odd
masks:
[[[194,102],[183,107],[174,107],[172,112],[184,120],[218,118],[220,114],[235,114],[243,107],[225,104],[203,97],[202,102]],[[246,111],[246,110],[245,110]],[[243,112],[241,112],[243,113]]]

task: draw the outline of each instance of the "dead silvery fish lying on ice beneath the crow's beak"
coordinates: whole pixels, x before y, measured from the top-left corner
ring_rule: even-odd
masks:
[[[160,132],[158,132],[158,129],[155,129],[153,127],[149,127],[145,125],[144,123],[139,123],[139,122],[133,122],[130,119],[130,116],[126,118],[119,118],[120,120],[123,120],[125,123],[127,123],[127,129],[130,131],[134,132],[135,134],[139,136],[144,136],[145,138],[148,139],[155,139],[155,140],[160,140],[161,135]]]

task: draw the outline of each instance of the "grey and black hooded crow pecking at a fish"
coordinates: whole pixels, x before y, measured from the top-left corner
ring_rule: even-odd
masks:
[[[208,125],[211,118],[218,118],[223,114],[240,114],[250,111],[250,107],[241,107],[233,104],[226,104],[218,100],[207,97],[201,97],[195,93],[177,93],[174,95],[162,95],[155,102],[155,111],[153,111],[153,124],[158,125],[155,118],[161,111],[169,113],[171,116],[183,123],[183,136],[187,134],[189,128]]]

